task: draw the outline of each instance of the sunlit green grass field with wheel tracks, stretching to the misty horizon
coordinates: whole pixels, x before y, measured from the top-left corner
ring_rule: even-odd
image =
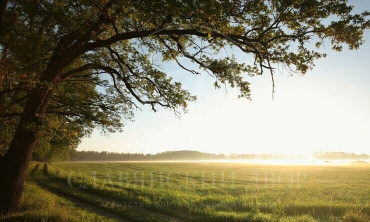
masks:
[[[33,162],[22,207],[2,220],[370,221],[370,167]]]

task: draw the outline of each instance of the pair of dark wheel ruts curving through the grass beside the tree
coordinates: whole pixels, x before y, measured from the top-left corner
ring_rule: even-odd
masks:
[[[59,182],[59,181],[57,181],[57,180],[54,180],[54,179],[52,179],[52,178],[50,178],[49,176],[48,176],[48,174],[47,174],[47,164],[46,163],[44,163],[44,167],[43,167],[43,173],[44,173],[44,175],[45,176],[47,176],[49,179],[50,179],[50,182],[52,182],[52,183],[54,183],[54,184],[57,184],[57,185],[59,185],[59,186],[62,186],[62,187],[64,187],[64,188],[70,188],[69,186],[67,186],[66,184],[64,184],[64,183],[62,183],[62,182]],[[47,186],[46,186],[47,187]],[[50,188],[50,189],[52,189],[52,187],[47,187],[47,188]],[[126,218],[123,218],[122,216],[120,216],[120,215],[117,215],[117,214],[114,214],[114,213],[112,213],[112,212],[110,212],[110,211],[108,211],[108,210],[105,210],[105,209],[103,209],[103,208],[101,208],[101,207],[98,207],[98,206],[95,206],[95,205],[93,205],[93,204],[91,204],[91,203],[88,203],[88,202],[86,202],[86,201],[83,201],[83,200],[80,200],[80,199],[78,199],[78,198],[76,198],[76,197],[73,197],[73,196],[71,196],[71,195],[68,195],[68,194],[65,194],[65,193],[61,193],[60,191],[58,191],[58,190],[56,190],[56,189],[53,189],[56,193],[58,193],[57,195],[60,195],[60,196],[62,196],[62,197],[64,197],[64,196],[66,196],[66,198],[71,198],[71,199],[74,199],[74,200],[76,200],[76,202],[78,202],[78,204],[79,203],[81,203],[81,204],[86,204],[86,205],[89,205],[89,206],[92,206],[92,211],[93,212],[95,212],[93,209],[97,209],[97,210],[99,210],[99,211],[101,211],[102,213],[104,213],[104,212],[106,212],[107,213],[107,215],[112,215],[112,216],[116,216],[117,218],[120,218],[118,221],[130,221],[130,220],[128,220],[128,219],[126,219]],[[79,189],[79,192],[81,192],[81,193],[88,193],[88,194],[90,194],[90,195],[92,195],[92,196],[96,196],[96,197],[98,197],[99,199],[101,199],[101,200],[104,200],[104,201],[106,201],[106,202],[123,202],[121,199],[114,199],[114,198],[110,198],[110,197],[105,197],[105,196],[100,196],[100,195],[97,195],[97,194],[95,194],[95,193],[90,193],[90,192],[86,192],[86,191],[84,191],[84,190],[81,190],[81,189]],[[163,220],[168,220],[168,221],[176,221],[176,222],[185,222],[185,220],[181,220],[181,219],[179,219],[179,218],[175,218],[174,216],[171,216],[171,215],[167,215],[167,214],[163,214],[163,213],[159,213],[159,212],[155,212],[155,211],[151,211],[151,210],[149,210],[148,208],[146,208],[146,207],[135,207],[135,206],[129,206],[128,205],[128,207],[130,208],[130,209],[134,209],[134,210],[137,210],[137,211],[140,211],[140,212],[142,212],[142,213],[145,213],[145,214],[148,214],[148,215],[155,215],[155,216],[157,216],[158,218],[160,218],[160,219],[163,219]],[[96,212],[97,214],[99,214],[98,212]],[[109,216],[107,216],[107,217],[109,217]]]

